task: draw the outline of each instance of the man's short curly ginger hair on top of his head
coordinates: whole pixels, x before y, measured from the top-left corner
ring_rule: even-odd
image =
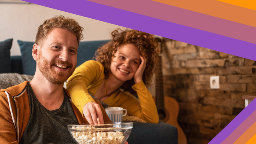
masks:
[[[64,16],[60,15],[45,20],[45,22],[38,27],[36,43],[38,43],[39,46],[42,46],[48,33],[50,33],[53,28],[62,28],[75,33],[78,45],[83,39],[82,31],[84,28],[82,28],[78,22],[76,22],[76,20],[69,17],[65,18]]]

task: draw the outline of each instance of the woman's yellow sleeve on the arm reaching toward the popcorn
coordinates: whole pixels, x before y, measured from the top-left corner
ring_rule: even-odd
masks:
[[[83,115],[83,107],[89,102],[95,102],[88,93],[88,87],[97,83],[104,74],[103,66],[97,61],[86,61],[78,66],[67,82],[67,91],[71,100]]]

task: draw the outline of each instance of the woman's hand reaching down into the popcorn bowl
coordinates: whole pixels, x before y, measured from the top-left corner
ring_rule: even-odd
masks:
[[[87,103],[83,108],[83,113],[89,124],[98,124],[97,118],[99,118],[100,124],[104,124],[102,111],[97,103]]]

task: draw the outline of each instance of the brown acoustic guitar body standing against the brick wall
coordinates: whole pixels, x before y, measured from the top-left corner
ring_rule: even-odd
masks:
[[[155,97],[154,97],[155,99]],[[184,131],[181,129],[178,124],[178,114],[180,111],[180,106],[172,97],[165,96],[164,97],[165,109],[164,111],[158,111],[159,119],[162,122],[167,124],[171,124],[178,129],[178,142],[179,144],[187,144],[187,138]],[[163,118],[163,119],[162,119]]]

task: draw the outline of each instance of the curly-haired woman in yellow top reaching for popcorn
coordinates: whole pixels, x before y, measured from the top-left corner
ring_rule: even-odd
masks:
[[[111,107],[127,109],[149,123],[158,123],[154,100],[147,87],[159,53],[154,35],[131,30],[115,30],[112,41],[96,51],[96,61],[86,61],[76,68],[67,83],[73,103],[90,124],[103,123],[102,112],[89,95]],[[89,93],[88,93],[89,92]],[[131,94],[138,95],[135,98]]]

